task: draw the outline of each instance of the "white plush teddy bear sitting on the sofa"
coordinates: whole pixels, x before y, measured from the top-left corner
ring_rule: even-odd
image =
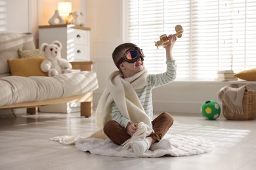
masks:
[[[41,70],[48,76],[55,76],[62,73],[72,73],[72,65],[66,59],[61,58],[60,50],[62,44],[53,41],[52,44],[43,43],[40,49],[45,53],[45,61],[41,63]]]

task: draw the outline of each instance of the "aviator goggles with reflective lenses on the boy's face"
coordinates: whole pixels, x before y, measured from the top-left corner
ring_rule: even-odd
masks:
[[[144,54],[142,52],[142,49],[139,47],[135,46],[133,48],[130,48],[125,52],[123,55],[123,59],[127,61],[128,63],[134,63],[137,61],[139,58],[141,58],[142,61],[144,61]]]

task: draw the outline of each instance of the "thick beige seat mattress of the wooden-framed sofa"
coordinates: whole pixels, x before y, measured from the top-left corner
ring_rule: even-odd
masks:
[[[97,88],[96,73],[91,71],[53,77],[4,76],[0,78],[0,106],[80,95]]]

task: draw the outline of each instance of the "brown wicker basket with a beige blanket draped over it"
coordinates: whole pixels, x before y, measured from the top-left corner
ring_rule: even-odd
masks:
[[[229,120],[253,120],[256,117],[256,92],[245,92],[243,98],[244,114],[232,112],[223,101],[223,115]]]

